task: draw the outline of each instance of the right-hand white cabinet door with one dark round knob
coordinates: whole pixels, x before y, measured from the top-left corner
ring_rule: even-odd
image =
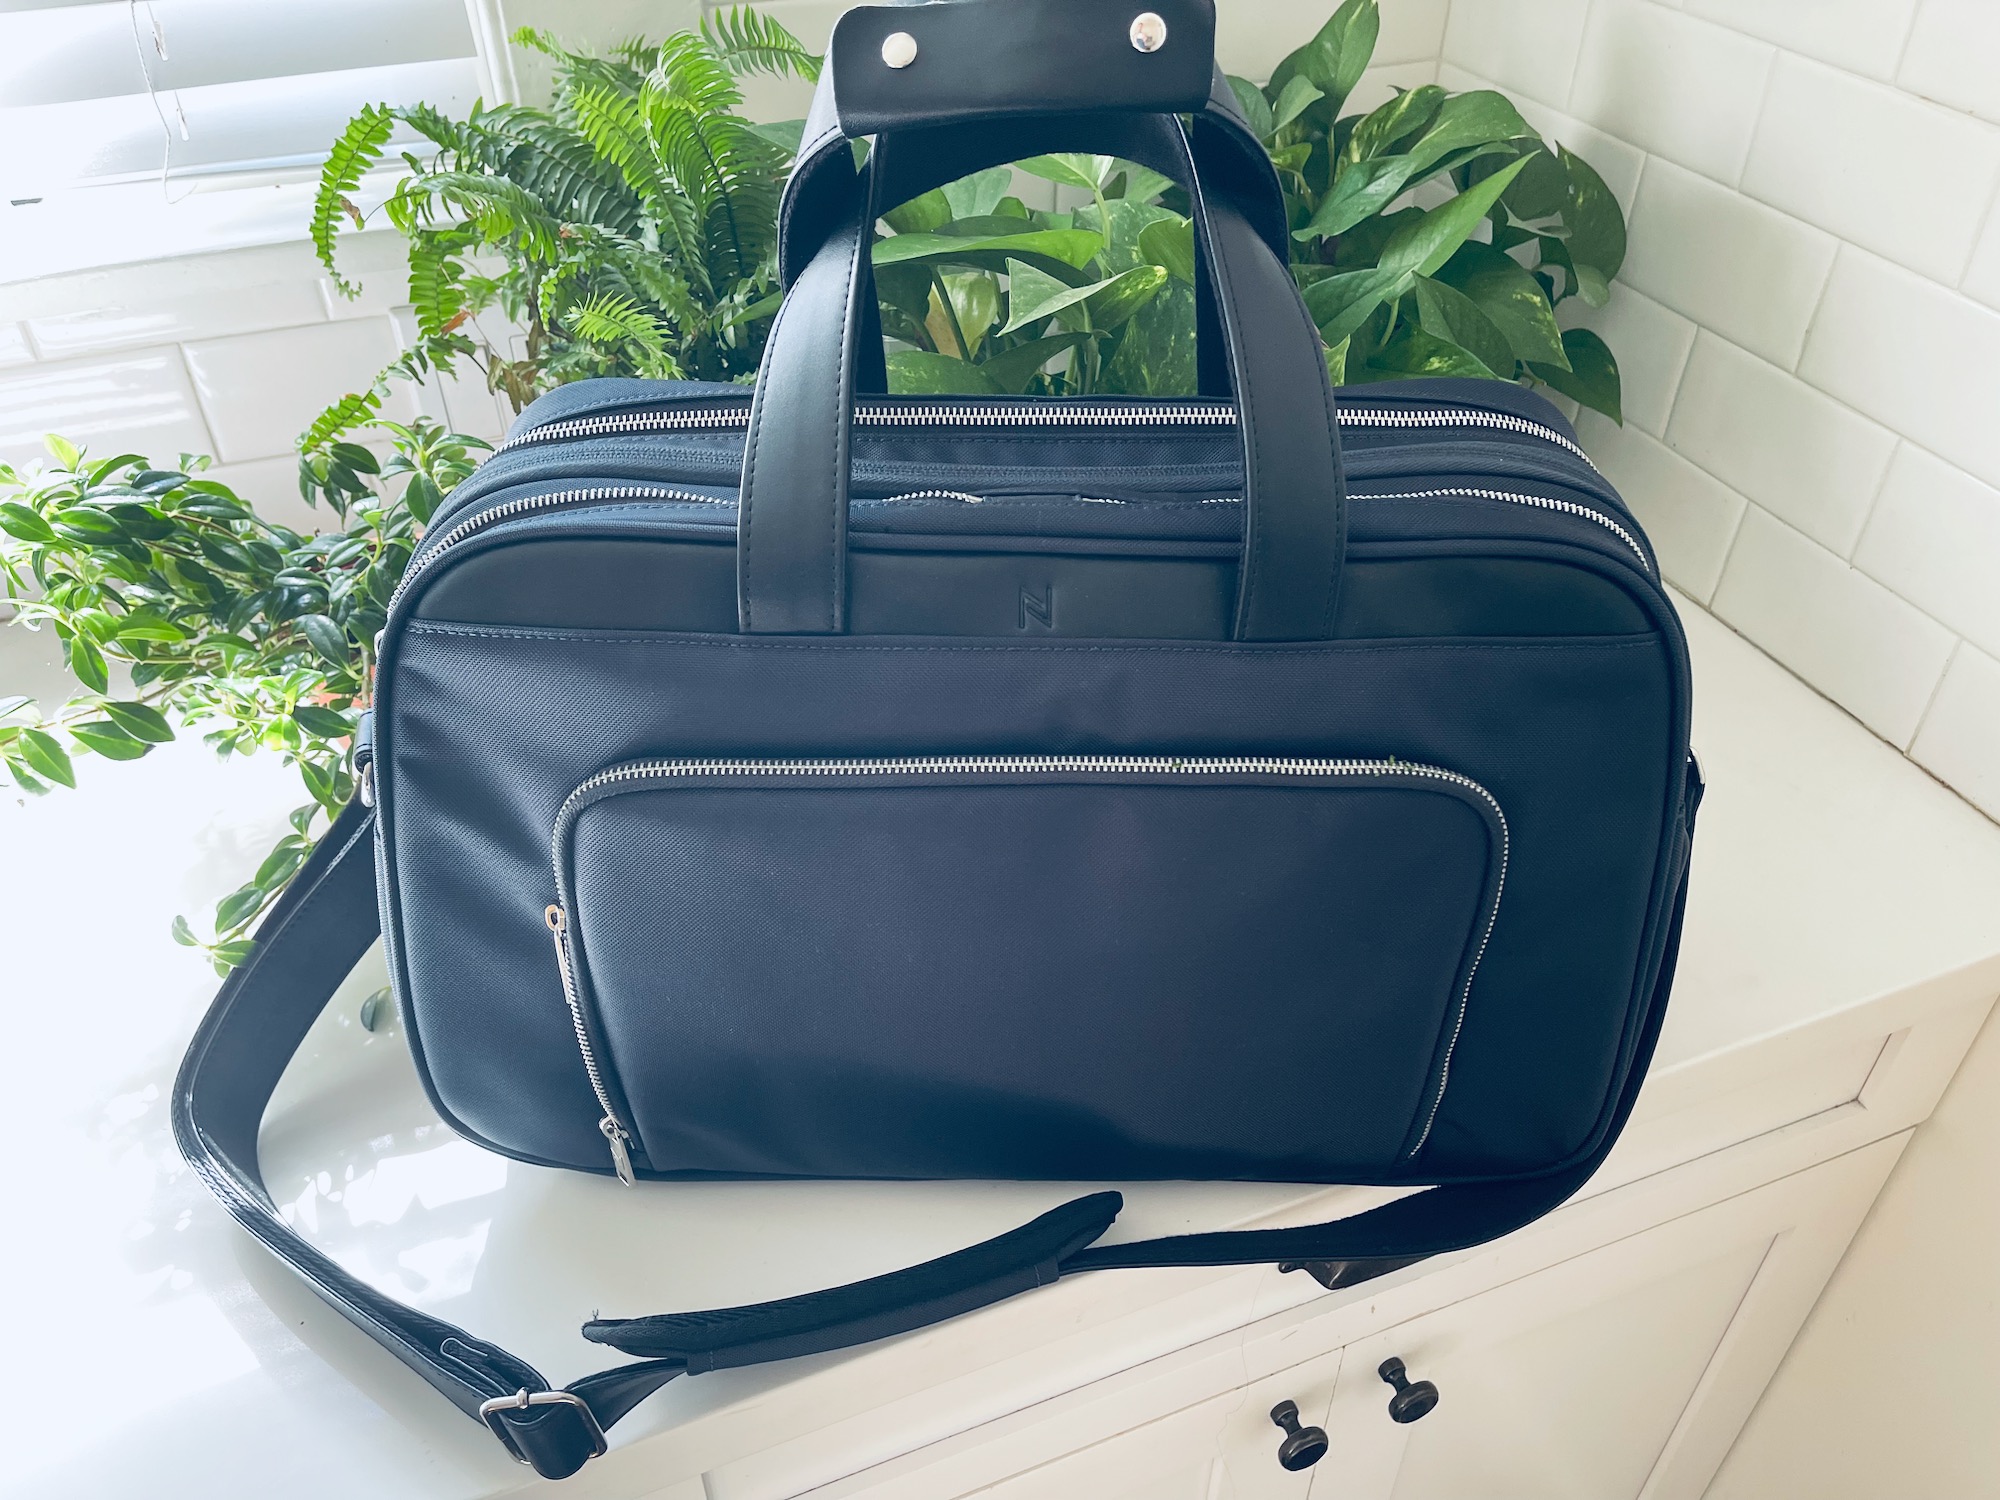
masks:
[[[1900,1144],[1350,1344],[1312,1500],[1696,1500]],[[1390,1356],[1440,1392],[1408,1426]]]

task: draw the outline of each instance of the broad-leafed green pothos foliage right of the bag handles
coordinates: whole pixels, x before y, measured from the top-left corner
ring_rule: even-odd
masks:
[[[1612,352],[1556,322],[1564,300],[1610,294],[1618,200],[1492,90],[1424,84],[1342,116],[1378,26],[1376,0],[1346,0],[1268,84],[1230,80],[1278,166],[1292,270],[1334,378],[1520,380],[1620,422]]]

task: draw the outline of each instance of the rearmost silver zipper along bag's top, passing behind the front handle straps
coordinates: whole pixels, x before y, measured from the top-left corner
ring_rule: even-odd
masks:
[[[1344,428],[1488,428],[1516,432],[1552,442],[1590,464],[1590,456],[1546,422],[1530,422],[1510,412],[1488,412],[1478,406],[1454,406],[1444,412],[1412,412],[1398,408],[1340,406],[1336,418]],[[710,408],[704,412],[606,412],[602,416],[572,416],[544,422],[500,444],[500,452],[530,442],[560,438],[610,438],[632,432],[718,432],[750,426],[750,408]],[[1198,426],[1232,428],[1236,408],[1226,402],[1188,402],[1182,406],[1138,408],[1092,402],[1052,406],[872,406],[854,408],[854,426],[864,428],[1146,428]],[[1592,464],[1592,470],[1596,466]]]

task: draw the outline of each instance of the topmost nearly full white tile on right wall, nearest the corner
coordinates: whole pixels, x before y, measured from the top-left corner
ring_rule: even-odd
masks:
[[[1568,110],[1716,182],[1750,150],[1772,48],[1646,0],[1598,0]]]

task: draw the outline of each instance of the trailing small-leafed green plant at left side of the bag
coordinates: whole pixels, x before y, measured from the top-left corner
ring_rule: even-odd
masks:
[[[50,438],[52,466],[0,464],[0,580],[16,624],[54,630],[80,692],[44,712],[0,698],[0,764],[16,786],[76,786],[84,754],[138,760],[180,730],[220,754],[276,750],[298,766],[308,802],[292,812],[256,874],[174,938],[218,972],[248,952],[248,930],[292,878],[312,840],[354,796],[352,734],[416,532],[478,462],[470,438],[434,422],[384,424],[378,464],[342,444],[340,488],[320,490],[340,528],[318,536],[260,520],[206,458],[172,468],[136,454],[92,460]]]

